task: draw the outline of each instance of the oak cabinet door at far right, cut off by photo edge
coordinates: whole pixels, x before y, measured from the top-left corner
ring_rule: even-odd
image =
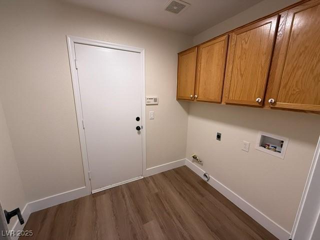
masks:
[[[320,111],[320,0],[281,14],[266,104]]]

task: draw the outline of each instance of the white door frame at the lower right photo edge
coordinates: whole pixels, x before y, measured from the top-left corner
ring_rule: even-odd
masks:
[[[290,239],[310,240],[320,217],[320,137],[315,148]]]

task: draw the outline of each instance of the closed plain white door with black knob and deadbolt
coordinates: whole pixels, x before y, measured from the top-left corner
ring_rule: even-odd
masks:
[[[74,44],[91,190],[142,175],[141,56]],[[136,120],[139,117],[139,120]]]

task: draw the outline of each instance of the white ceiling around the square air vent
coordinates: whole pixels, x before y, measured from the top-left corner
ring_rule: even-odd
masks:
[[[261,0],[185,0],[191,5],[178,14],[164,10],[168,0],[65,1],[115,16],[196,35]]]

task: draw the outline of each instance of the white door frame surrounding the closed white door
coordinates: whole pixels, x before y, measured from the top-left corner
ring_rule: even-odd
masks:
[[[81,107],[81,98],[80,98],[80,88],[78,81],[78,74],[75,66],[75,50],[74,43],[86,44],[91,46],[100,46],[106,48],[113,48],[125,51],[133,51],[140,53],[141,56],[141,76],[142,76],[142,90],[141,90],[141,118],[142,118],[142,174],[144,175],[146,169],[146,149],[145,149],[145,69],[144,69],[144,48],[138,48],[133,46],[115,44],[111,42],[104,42],[99,40],[92,40],[83,37],[70,36],[66,35],[68,53],[69,53],[69,63],[71,70],[71,79],[72,79],[72,87],[73,87],[73,95],[74,95],[74,103],[75,103],[75,112],[76,119],[78,124],[78,132],[79,132],[79,140],[80,140],[80,148],[82,155],[82,164],[83,164],[83,174],[85,187],[87,189],[87,194],[91,194],[91,184],[89,179],[89,162],[86,152],[86,143],[85,143],[85,134],[83,129],[83,114]]]

